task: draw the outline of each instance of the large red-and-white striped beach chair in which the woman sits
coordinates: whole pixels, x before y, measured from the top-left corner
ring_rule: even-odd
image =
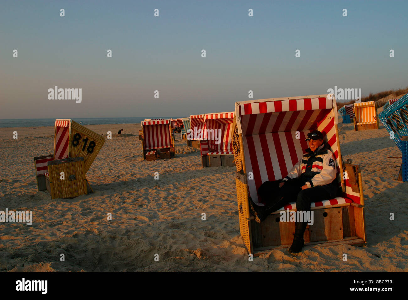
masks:
[[[333,97],[334,98],[334,97]],[[309,244],[365,244],[364,198],[358,165],[344,164],[337,132],[337,106],[326,95],[273,98],[235,103],[233,151],[241,236],[249,253],[287,247],[293,241],[294,222],[279,222],[290,203],[257,223],[249,213],[248,197],[258,203],[257,189],[284,178],[308,148],[307,133],[319,130],[331,146],[342,193],[314,202],[314,224],[304,238]],[[344,165],[346,167],[344,167]]]

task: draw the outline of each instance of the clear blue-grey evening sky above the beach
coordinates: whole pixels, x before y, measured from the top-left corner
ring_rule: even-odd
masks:
[[[250,90],[407,87],[406,11],[408,1],[0,0],[0,118],[190,116],[234,111]],[[81,88],[82,102],[49,100],[55,86]]]

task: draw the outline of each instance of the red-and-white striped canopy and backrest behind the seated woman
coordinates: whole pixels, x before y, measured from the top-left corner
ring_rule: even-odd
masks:
[[[248,189],[255,203],[263,182],[284,178],[299,161],[309,147],[307,133],[313,130],[323,133],[339,173],[337,106],[327,94],[236,102],[235,115],[243,136],[246,173],[253,173]]]

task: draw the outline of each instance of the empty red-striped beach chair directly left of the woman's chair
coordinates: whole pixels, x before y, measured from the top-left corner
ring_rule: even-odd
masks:
[[[233,166],[232,123],[234,112],[206,113],[207,141],[200,144],[202,167]]]

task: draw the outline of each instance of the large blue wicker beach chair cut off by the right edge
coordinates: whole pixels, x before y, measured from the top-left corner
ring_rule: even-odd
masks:
[[[392,99],[395,100],[395,99]],[[408,94],[392,101],[378,115],[381,123],[402,152],[402,164],[397,180],[408,181]]]

